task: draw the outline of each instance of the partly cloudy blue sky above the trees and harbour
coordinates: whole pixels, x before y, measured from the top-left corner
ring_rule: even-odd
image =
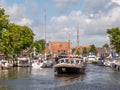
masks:
[[[107,29],[120,26],[120,0],[0,0],[0,7],[11,23],[30,27],[34,40],[70,40],[73,47],[77,30],[79,45],[102,47]]]

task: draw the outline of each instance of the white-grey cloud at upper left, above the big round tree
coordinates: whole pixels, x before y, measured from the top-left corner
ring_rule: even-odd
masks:
[[[7,5],[5,2],[7,1],[3,0],[2,7],[5,8],[6,13],[10,16],[10,22],[28,26],[33,24],[34,21],[31,16],[33,17],[34,13],[38,12],[38,6],[34,1],[25,0],[23,3],[13,3],[13,5]]]

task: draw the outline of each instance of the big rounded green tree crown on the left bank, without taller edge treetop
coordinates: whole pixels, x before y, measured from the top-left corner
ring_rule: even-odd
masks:
[[[27,26],[9,24],[8,30],[2,32],[0,47],[6,55],[14,55],[29,48],[33,43],[33,32]]]

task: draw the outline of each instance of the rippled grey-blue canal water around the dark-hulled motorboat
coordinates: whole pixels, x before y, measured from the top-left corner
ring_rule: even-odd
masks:
[[[85,74],[57,75],[53,68],[0,71],[0,90],[120,90],[120,72],[89,64]]]

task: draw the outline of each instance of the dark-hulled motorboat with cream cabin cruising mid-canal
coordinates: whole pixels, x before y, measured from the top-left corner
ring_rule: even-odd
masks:
[[[58,74],[84,73],[86,63],[80,58],[61,58],[54,69]]]

